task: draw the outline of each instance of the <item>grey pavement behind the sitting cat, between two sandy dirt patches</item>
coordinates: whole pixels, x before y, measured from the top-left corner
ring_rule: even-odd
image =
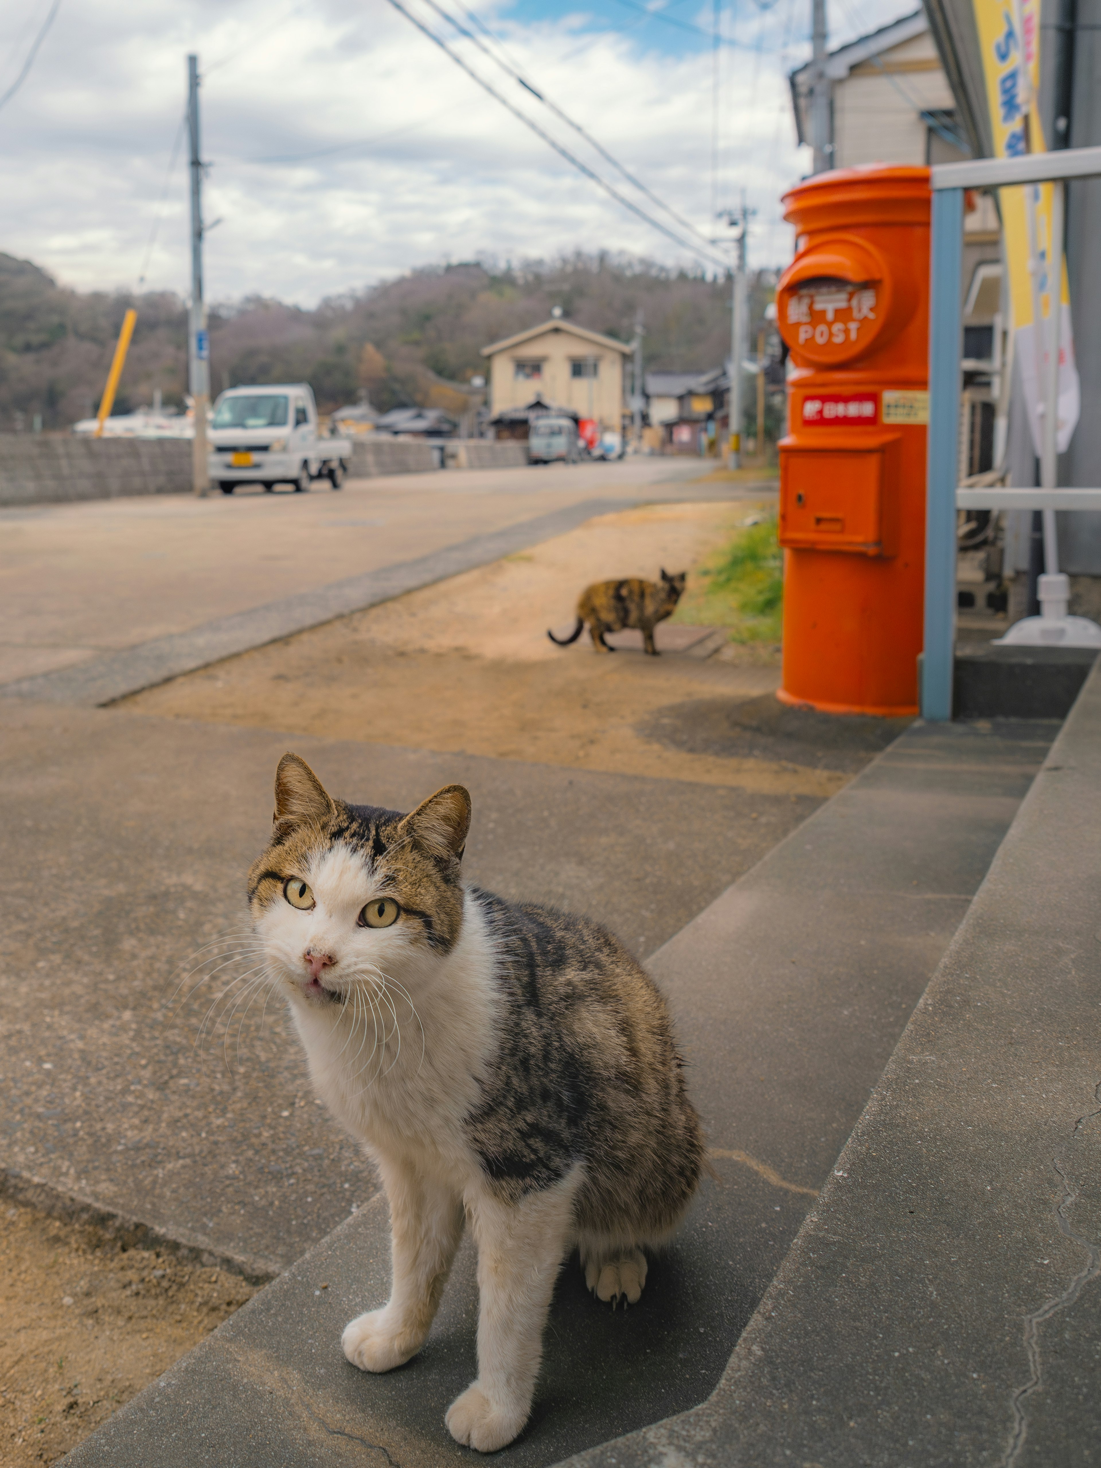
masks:
[[[201,959],[189,954],[245,928],[244,876],[285,749],[330,788],[393,809],[462,781],[473,881],[590,912],[640,956],[818,803],[15,699],[0,703],[0,821],[19,853],[0,953],[9,1191],[40,1180],[251,1273],[285,1268],[374,1191],[314,1105],[276,1006],[263,1026],[260,997],[239,1026],[247,1000],[219,1020],[244,954],[220,973],[226,998],[198,1048],[223,985],[173,1001]]]

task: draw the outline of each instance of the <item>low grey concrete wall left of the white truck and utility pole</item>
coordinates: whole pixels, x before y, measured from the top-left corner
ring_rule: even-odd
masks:
[[[0,433],[0,505],[182,495],[189,489],[189,439]]]

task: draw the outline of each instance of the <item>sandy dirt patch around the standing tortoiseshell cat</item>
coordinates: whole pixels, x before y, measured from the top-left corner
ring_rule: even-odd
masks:
[[[556,647],[602,577],[691,570],[755,502],[652,505],[603,515],[495,565],[386,602],[128,700],[142,713],[523,759],[612,774],[825,797],[846,777],[790,756],[678,749],[642,733],[693,697],[746,700],[780,683],[775,652],[713,656]],[[705,644],[713,650],[715,643]]]

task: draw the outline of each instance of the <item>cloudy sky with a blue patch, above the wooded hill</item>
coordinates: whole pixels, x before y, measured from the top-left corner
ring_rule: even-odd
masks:
[[[390,0],[60,0],[4,103],[54,3],[0,6],[0,250],[68,285],[188,289],[189,51],[203,73],[206,216],[220,220],[210,301],[313,305],[417,264],[575,248],[706,264],[686,223],[721,233],[713,213],[743,189],[757,210],[750,264],[790,251],[778,197],[807,160],[787,72],[809,54],[809,0],[401,0],[678,239],[552,151]],[[831,0],[831,44],[912,9]]]

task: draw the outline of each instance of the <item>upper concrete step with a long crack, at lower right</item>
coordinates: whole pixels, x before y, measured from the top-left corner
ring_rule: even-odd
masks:
[[[575,1468],[1098,1461],[1098,831],[1095,669],[718,1390]]]

